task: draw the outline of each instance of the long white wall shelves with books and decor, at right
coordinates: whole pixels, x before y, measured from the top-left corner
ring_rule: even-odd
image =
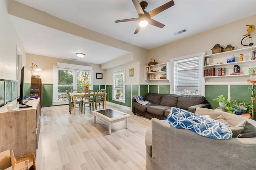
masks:
[[[256,46],[205,55],[203,57],[203,77],[205,83],[216,81],[216,78],[227,78],[224,81],[244,82],[252,68],[256,66]],[[240,54],[243,54],[240,61]],[[250,69],[250,71],[249,71]],[[214,78],[214,80],[211,80]]]

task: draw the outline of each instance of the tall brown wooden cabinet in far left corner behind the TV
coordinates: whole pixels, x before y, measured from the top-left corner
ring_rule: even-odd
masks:
[[[41,78],[31,78],[30,96],[38,96],[41,99],[41,108],[43,105],[43,86]]]

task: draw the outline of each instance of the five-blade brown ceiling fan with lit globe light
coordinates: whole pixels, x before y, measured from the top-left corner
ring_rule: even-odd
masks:
[[[156,20],[153,20],[151,17],[174,6],[174,2],[173,2],[173,0],[171,0],[170,2],[167,2],[166,4],[159,6],[158,8],[156,8],[150,12],[146,12],[145,9],[148,6],[148,3],[146,1],[139,2],[138,0],[132,0],[132,2],[136,8],[136,11],[139,14],[139,17],[138,18],[130,18],[130,19],[126,19],[126,20],[117,20],[115,22],[118,23],[118,22],[126,22],[126,21],[138,21],[139,24],[138,24],[134,34],[138,33],[138,31],[140,30],[140,27],[144,27],[144,26],[148,25],[148,23],[151,25],[154,25],[156,27],[163,28],[165,26],[164,24],[162,24]]]

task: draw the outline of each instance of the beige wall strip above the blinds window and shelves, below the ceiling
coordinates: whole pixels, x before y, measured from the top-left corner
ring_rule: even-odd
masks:
[[[158,63],[165,63],[172,58],[203,51],[206,51],[206,55],[209,55],[212,54],[211,49],[215,44],[220,44],[223,48],[229,44],[235,47],[235,49],[245,48],[245,46],[241,45],[241,40],[244,38],[243,35],[247,33],[248,27],[246,25],[249,24],[256,25],[256,15],[151,49],[149,50],[148,60],[154,58]],[[256,45],[256,31],[251,36],[252,42]]]

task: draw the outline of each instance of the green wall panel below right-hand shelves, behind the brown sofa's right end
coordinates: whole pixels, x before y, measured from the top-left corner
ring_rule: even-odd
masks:
[[[210,103],[213,109],[217,108],[219,103],[212,101],[212,99],[221,94],[223,94],[225,98],[228,98],[228,85],[206,85],[204,90],[206,102]]]

